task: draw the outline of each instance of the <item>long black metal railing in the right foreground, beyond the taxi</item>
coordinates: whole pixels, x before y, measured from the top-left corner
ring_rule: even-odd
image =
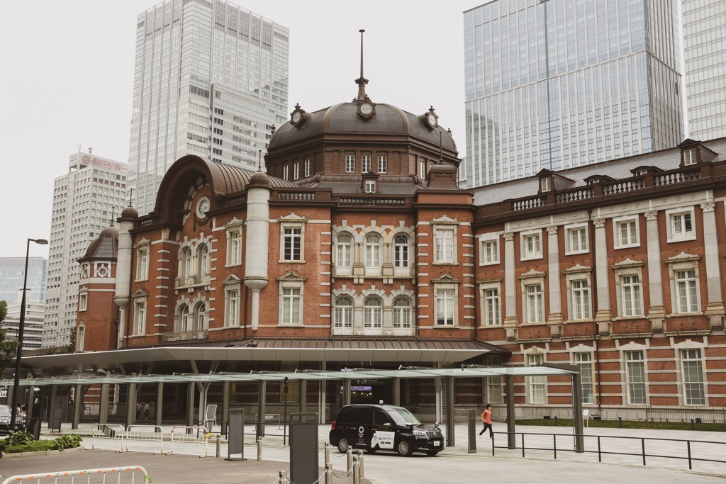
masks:
[[[576,434],[549,434],[539,432],[494,432],[495,435],[515,436],[515,446],[497,446],[492,440],[492,456],[495,448],[521,449],[522,457],[526,451],[552,451],[555,459],[558,452],[576,452],[577,454],[597,454],[597,462],[603,462],[603,456],[637,456],[648,465],[648,459],[676,459],[688,461],[688,469],[693,470],[693,462],[714,462],[726,464],[726,441],[717,442],[714,440],[693,440],[676,438],[653,438],[653,437],[624,437],[619,435],[576,435]],[[584,449],[576,451],[574,440],[577,437],[584,438]],[[668,454],[665,451],[658,452],[664,448],[663,444],[669,443]],[[677,450],[680,443],[680,451]],[[716,451],[704,452],[707,448]],[[725,456],[724,459],[709,459],[704,456]]]

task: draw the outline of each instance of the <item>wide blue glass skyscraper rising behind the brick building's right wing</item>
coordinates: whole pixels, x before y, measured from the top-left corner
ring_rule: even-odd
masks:
[[[464,46],[462,186],[682,141],[677,0],[495,0]]]

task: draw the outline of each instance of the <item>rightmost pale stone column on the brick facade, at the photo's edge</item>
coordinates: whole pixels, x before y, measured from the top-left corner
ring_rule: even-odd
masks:
[[[719,269],[719,240],[716,231],[716,212],[713,201],[701,203],[703,210],[703,249],[706,253],[706,287],[708,302],[706,316],[711,329],[724,328],[725,306],[722,297],[721,271]]]

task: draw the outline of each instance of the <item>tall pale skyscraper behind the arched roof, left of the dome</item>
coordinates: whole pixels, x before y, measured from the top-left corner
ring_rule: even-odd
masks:
[[[139,213],[183,155],[256,169],[287,120],[288,35],[226,0],[166,0],[139,15],[129,146]]]

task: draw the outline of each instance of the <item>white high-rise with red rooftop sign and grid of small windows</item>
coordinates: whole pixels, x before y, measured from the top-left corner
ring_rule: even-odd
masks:
[[[91,153],[70,155],[68,173],[53,184],[43,348],[68,345],[76,327],[78,258],[121,215],[129,165]]]

